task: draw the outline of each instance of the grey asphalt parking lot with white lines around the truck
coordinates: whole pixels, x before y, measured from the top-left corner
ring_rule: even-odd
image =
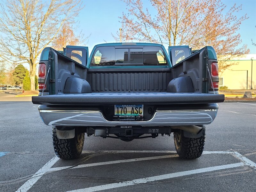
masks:
[[[180,159],[171,135],[85,137],[79,159],[61,160],[37,105],[0,102],[0,191],[256,191],[256,103],[219,106],[198,159]]]

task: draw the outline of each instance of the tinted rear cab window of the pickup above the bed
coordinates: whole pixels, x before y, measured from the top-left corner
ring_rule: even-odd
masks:
[[[101,46],[93,52],[90,66],[168,66],[160,46]]]

